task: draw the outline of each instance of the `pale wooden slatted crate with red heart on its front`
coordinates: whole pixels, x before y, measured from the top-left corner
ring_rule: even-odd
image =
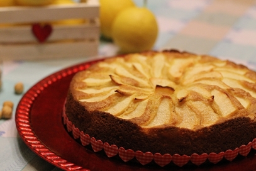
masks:
[[[63,19],[86,19],[79,25],[55,25]],[[52,32],[40,42],[33,33],[36,23],[51,23]],[[87,57],[97,55],[99,46],[99,2],[0,8],[0,58]]]

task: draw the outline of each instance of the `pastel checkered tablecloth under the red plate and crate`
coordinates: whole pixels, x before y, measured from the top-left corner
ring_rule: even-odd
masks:
[[[143,0],[136,0],[135,3],[142,6]],[[154,50],[175,48],[209,54],[256,70],[255,0],[148,0],[147,7],[155,14],[159,24]],[[23,82],[26,92],[36,82],[58,70],[116,53],[118,47],[101,40],[95,57],[5,60],[0,104],[13,101],[16,109],[22,97],[14,94],[16,82]],[[14,114],[11,119],[0,120],[0,170],[60,170],[25,145],[16,130]]]

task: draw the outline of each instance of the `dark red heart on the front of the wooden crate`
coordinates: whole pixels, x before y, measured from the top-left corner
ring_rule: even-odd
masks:
[[[39,42],[44,42],[52,33],[51,25],[40,25],[38,23],[32,25],[32,32]]]

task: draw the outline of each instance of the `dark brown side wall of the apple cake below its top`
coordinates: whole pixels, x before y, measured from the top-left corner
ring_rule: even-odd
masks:
[[[67,117],[79,130],[110,145],[142,152],[172,155],[219,153],[247,145],[256,137],[253,131],[256,130],[256,123],[247,117],[230,119],[196,131],[175,126],[148,129],[108,113],[89,113],[70,92],[66,105]]]

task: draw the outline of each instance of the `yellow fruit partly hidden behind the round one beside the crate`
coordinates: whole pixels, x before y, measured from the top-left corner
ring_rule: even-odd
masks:
[[[100,0],[99,20],[101,21],[101,34],[111,39],[111,25],[116,15],[123,9],[135,6],[132,0]]]

